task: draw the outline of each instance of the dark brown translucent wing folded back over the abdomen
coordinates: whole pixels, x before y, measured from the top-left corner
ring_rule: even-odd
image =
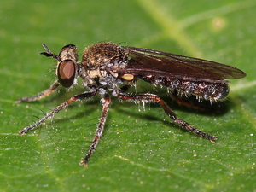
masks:
[[[154,75],[170,79],[224,83],[224,79],[246,76],[240,69],[214,61],[175,55],[151,49],[123,47],[129,52],[125,73],[137,76]]]

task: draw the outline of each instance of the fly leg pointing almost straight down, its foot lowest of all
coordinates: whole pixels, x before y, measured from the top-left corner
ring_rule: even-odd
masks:
[[[94,139],[93,139],[93,141],[90,145],[89,151],[85,155],[84,160],[82,160],[81,166],[87,166],[87,163],[88,163],[88,160],[90,159],[90,156],[94,153],[94,151],[96,149],[96,146],[99,143],[100,138],[102,137],[102,132],[103,132],[104,125],[105,125],[105,122],[106,122],[106,119],[107,119],[108,106],[109,106],[110,102],[111,102],[111,100],[110,100],[110,97],[108,95],[105,95],[104,98],[102,98],[102,105],[103,105],[102,116],[101,116],[101,119],[100,119],[100,123],[99,123],[99,125],[96,129],[96,136],[94,137]]]

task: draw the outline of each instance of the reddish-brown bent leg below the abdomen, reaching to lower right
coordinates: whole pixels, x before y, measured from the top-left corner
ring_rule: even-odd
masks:
[[[160,106],[164,109],[165,113],[171,119],[173,119],[173,121],[175,123],[177,123],[177,125],[180,125],[183,129],[185,129],[189,132],[193,132],[193,133],[197,134],[200,137],[206,138],[206,139],[210,140],[211,142],[214,142],[215,140],[217,140],[217,137],[211,136],[211,135],[209,135],[205,132],[202,132],[202,131],[196,129],[194,126],[189,125],[188,123],[183,121],[183,119],[177,118],[176,114],[172,112],[172,109],[166,104],[166,102],[164,102],[160,98],[160,96],[156,96],[154,94],[132,95],[132,94],[119,93],[118,97],[120,99],[122,99],[124,101],[128,101],[128,102],[143,102],[143,103],[154,102],[154,103],[159,103]]]

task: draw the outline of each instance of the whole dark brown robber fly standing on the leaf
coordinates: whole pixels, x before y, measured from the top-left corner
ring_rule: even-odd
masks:
[[[94,153],[97,144],[102,137],[102,131],[107,119],[110,96],[116,96],[121,101],[159,103],[165,113],[183,129],[193,132],[200,137],[214,142],[217,137],[189,125],[183,119],[177,118],[172,109],[160,96],[142,93],[127,93],[138,79],[150,84],[166,86],[178,95],[196,96],[197,99],[218,101],[229,93],[229,81],[226,79],[240,79],[246,76],[236,67],[227,66],[214,61],[201,60],[189,56],[174,55],[151,49],[126,47],[110,42],[93,44],[84,49],[82,61],[78,61],[77,47],[73,44],[64,46],[59,55],[51,52],[43,44],[45,52],[41,53],[52,57],[57,61],[56,76],[58,79],[49,89],[36,96],[22,97],[17,102],[32,102],[49,96],[60,85],[70,88],[76,84],[76,78],[83,79],[83,85],[89,91],[72,96],[66,102],[61,103],[50,113],[39,119],[38,122],[27,126],[20,131],[24,134],[36,128],[45,120],[66,108],[71,102],[83,101],[93,96],[102,97],[102,116],[96,128],[88,153],[81,164],[86,166],[90,156]]]

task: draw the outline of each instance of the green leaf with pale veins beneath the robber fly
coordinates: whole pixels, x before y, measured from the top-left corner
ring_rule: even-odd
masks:
[[[2,191],[255,191],[255,1],[32,1],[0,7],[0,189]],[[177,116],[218,136],[217,143],[174,125],[157,105],[113,98],[104,136],[89,166],[79,166],[101,115],[100,98],[73,103],[53,121],[18,131],[84,91],[60,89],[40,102],[15,103],[47,89],[65,44],[113,41],[228,63],[247,73],[232,80],[222,113],[177,106],[165,90],[139,82],[137,92],[164,96]],[[217,106],[218,107],[218,106]]]

